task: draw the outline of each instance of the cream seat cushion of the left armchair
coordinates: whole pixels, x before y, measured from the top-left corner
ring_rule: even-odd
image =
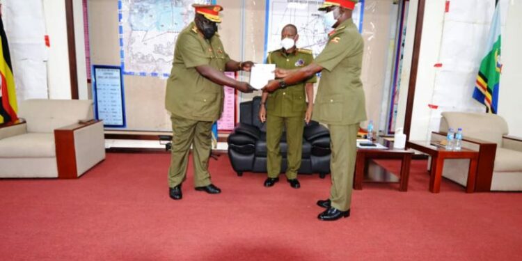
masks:
[[[0,140],[1,158],[56,157],[53,133],[26,133]]]

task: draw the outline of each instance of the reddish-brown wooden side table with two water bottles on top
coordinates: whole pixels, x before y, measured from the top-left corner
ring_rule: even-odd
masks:
[[[429,173],[429,191],[439,193],[441,191],[442,171],[445,159],[470,159],[468,168],[468,181],[466,192],[475,191],[475,176],[477,173],[478,152],[475,150],[446,150],[443,147],[432,145],[430,141],[408,141],[407,148],[424,152],[432,157],[432,171]]]

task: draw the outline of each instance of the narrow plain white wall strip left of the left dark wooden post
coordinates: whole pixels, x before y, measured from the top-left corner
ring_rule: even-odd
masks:
[[[43,0],[45,27],[49,35],[47,85],[49,99],[70,99],[71,84],[65,1]]]

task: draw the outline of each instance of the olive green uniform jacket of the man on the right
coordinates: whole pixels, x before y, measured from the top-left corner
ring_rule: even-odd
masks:
[[[351,19],[329,34],[329,42],[315,58],[321,72],[313,120],[350,125],[366,120],[361,82],[364,42]]]

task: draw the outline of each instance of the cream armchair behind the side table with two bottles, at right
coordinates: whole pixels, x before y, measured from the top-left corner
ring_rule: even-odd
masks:
[[[445,139],[449,127],[461,127],[462,146],[479,151],[475,191],[522,191],[522,139],[507,136],[507,122],[489,113],[442,113],[439,132],[432,141]],[[464,187],[468,159],[446,159],[443,177]]]

